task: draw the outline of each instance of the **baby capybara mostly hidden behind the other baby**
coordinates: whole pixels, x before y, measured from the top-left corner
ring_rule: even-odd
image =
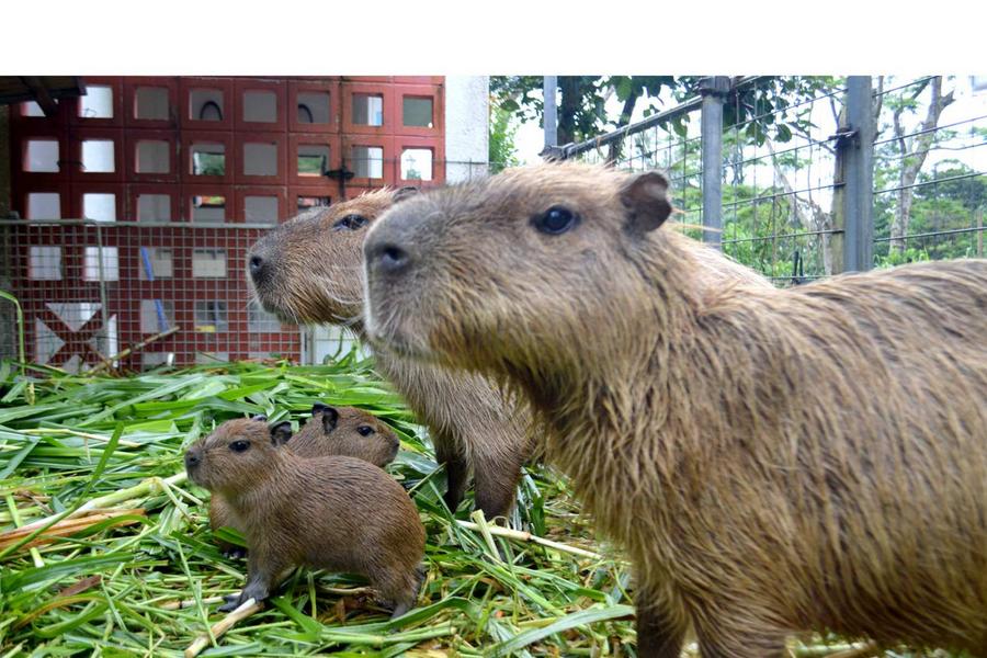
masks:
[[[251,420],[266,428],[266,417]],[[299,457],[328,457],[343,455],[370,462],[383,468],[397,456],[400,441],[386,423],[372,413],[356,407],[329,407],[316,402],[311,418],[292,435],[292,424],[283,421],[271,428],[271,436],[277,444],[286,445]],[[224,525],[239,532],[229,504],[217,494],[209,500],[209,525],[213,532]],[[241,557],[243,552],[232,544],[217,541],[219,548],[230,557]]]

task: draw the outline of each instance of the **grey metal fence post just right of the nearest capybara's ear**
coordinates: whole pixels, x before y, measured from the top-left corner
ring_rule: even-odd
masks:
[[[724,76],[703,78],[703,241],[721,248],[723,227],[723,101],[730,91],[730,79]]]

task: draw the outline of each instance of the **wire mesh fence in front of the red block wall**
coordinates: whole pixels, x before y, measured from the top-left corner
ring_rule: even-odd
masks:
[[[439,180],[487,173],[484,162],[433,164]],[[371,179],[358,190],[383,186]],[[309,201],[299,197],[298,209]],[[41,208],[46,202],[30,201]],[[277,226],[276,212],[259,220],[208,200],[192,207],[188,217],[177,209],[164,220],[54,219],[56,212],[43,209],[30,219],[0,219],[0,290],[23,308],[29,361],[126,372],[239,360],[314,363],[349,348],[339,330],[282,324],[251,300],[247,253]],[[197,214],[202,208],[215,214]],[[0,313],[2,355],[16,358],[13,307],[0,302]]]

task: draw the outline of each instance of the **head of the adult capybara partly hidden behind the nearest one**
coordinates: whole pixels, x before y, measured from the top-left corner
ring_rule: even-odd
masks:
[[[298,215],[247,254],[258,300],[282,320],[347,324],[363,304],[363,238],[370,225],[415,188],[378,190]]]

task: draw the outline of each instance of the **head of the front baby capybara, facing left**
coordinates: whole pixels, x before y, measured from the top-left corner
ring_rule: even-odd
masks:
[[[269,426],[262,416],[228,420],[185,451],[185,470],[193,483],[211,491],[235,492],[263,481],[291,436],[287,421]]]

